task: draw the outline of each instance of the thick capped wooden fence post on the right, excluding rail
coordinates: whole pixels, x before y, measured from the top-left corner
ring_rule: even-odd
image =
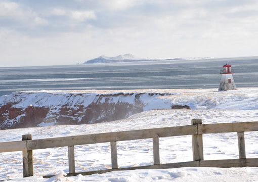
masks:
[[[192,119],[192,125],[201,124],[201,119]],[[193,143],[193,160],[203,160],[203,144],[202,144],[202,134],[193,134],[192,135],[192,143]]]

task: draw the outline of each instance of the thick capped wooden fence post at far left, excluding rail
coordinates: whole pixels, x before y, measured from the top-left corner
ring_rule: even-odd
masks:
[[[32,140],[32,134],[22,135],[22,140]],[[23,177],[33,176],[33,151],[22,151]]]

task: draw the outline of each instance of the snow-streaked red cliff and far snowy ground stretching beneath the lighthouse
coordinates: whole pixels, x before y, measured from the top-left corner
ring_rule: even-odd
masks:
[[[39,90],[0,97],[0,128],[90,124],[128,118],[156,109],[241,109],[258,107],[257,88]]]

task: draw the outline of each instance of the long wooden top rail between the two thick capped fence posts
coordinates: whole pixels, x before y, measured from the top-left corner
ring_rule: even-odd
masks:
[[[66,136],[27,141],[28,150],[197,134],[196,125]]]

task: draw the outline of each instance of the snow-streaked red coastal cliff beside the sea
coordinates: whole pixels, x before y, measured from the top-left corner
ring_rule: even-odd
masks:
[[[2,96],[0,128],[25,128],[63,124],[93,124],[130,117],[146,110],[171,109],[159,100],[170,93],[121,90],[40,90]],[[148,110],[148,109],[147,109]]]

